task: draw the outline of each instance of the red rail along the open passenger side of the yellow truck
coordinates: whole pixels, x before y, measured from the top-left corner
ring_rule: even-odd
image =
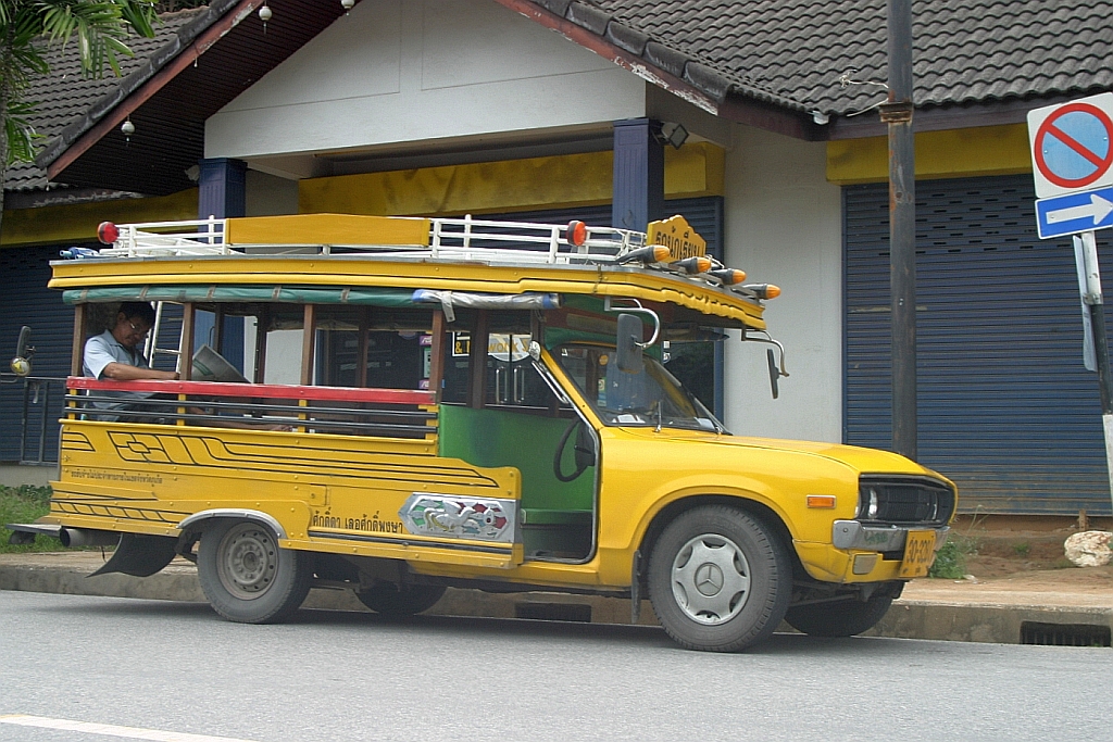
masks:
[[[421,389],[365,389],[346,386],[295,386],[292,384],[225,384],[221,382],[110,382],[85,376],[66,379],[70,389],[97,392],[155,392],[207,397],[266,397],[319,402],[370,402],[381,405],[435,405],[436,395]]]

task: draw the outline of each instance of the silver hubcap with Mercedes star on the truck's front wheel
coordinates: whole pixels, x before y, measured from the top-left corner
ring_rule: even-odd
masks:
[[[696,536],[672,560],[672,596],[689,619],[716,625],[746,605],[750,566],[742,550],[718,534]]]

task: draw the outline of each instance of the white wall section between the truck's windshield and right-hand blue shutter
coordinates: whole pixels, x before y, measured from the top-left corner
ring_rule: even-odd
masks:
[[[737,126],[727,155],[727,265],[780,286],[766,304],[785,344],[780,398],[769,393],[765,344],[727,343],[725,423],[739,435],[843,439],[843,248],[839,188],[826,147]]]

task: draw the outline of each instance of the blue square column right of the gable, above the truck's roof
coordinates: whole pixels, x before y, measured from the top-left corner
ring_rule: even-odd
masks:
[[[614,198],[611,226],[644,231],[664,215],[664,148],[649,119],[614,122]]]

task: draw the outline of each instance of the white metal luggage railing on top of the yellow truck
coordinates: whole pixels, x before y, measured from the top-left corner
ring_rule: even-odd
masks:
[[[581,245],[569,240],[569,225],[530,221],[430,219],[427,245],[326,244],[226,245],[225,219],[151,221],[119,225],[111,247],[80,257],[175,257],[238,255],[252,251],[309,250],[319,255],[396,255],[433,260],[480,260],[484,263],[585,264],[614,263],[632,249],[646,245],[646,234],[611,227],[585,227]],[[270,249],[266,249],[270,248]]]

